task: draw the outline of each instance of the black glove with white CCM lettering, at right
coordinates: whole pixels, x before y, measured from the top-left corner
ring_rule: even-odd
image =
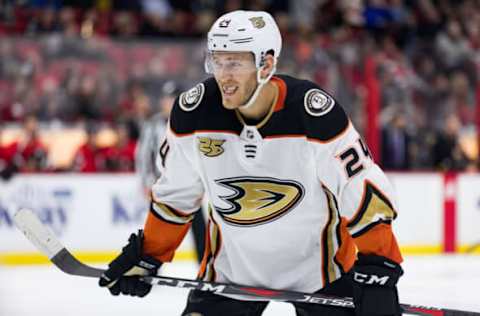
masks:
[[[403,270],[392,260],[359,253],[350,276],[356,316],[400,316],[397,282]]]

